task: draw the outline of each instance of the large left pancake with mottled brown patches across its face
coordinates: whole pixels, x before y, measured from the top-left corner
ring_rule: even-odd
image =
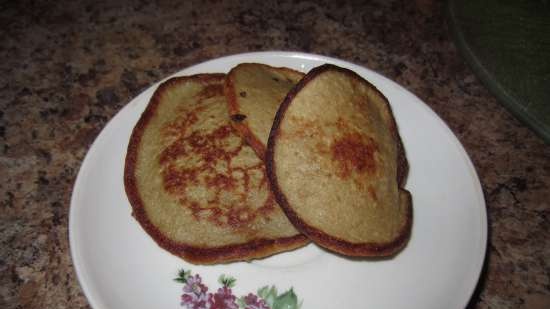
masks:
[[[262,258],[306,244],[232,128],[223,74],[162,83],[128,145],[133,215],[157,244],[197,264]]]

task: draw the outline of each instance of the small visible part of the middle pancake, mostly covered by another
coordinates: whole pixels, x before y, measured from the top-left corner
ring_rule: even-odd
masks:
[[[275,113],[303,76],[289,68],[242,63],[226,77],[224,91],[232,124],[262,160]]]

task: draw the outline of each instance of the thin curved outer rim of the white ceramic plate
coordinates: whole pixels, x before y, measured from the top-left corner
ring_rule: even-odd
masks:
[[[479,226],[480,226],[480,233],[478,235],[479,236],[478,240],[479,240],[479,243],[480,243],[481,247],[480,247],[480,250],[478,252],[477,259],[476,259],[476,265],[473,267],[473,271],[471,272],[471,276],[467,277],[467,281],[468,281],[468,289],[467,290],[468,290],[468,293],[466,293],[466,295],[464,295],[464,297],[463,297],[464,299],[462,300],[462,304],[463,304],[462,307],[466,307],[466,305],[470,302],[470,299],[472,298],[472,296],[473,296],[473,294],[474,294],[474,292],[475,292],[475,290],[476,290],[476,288],[479,284],[479,280],[480,280],[482,270],[483,270],[483,267],[484,267],[484,264],[485,264],[485,259],[486,259],[486,254],[487,254],[487,241],[488,241],[488,239],[487,239],[487,235],[488,235],[487,203],[486,203],[486,200],[485,200],[485,196],[483,194],[481,181],[480,181],[479,176],[477,174],[475,165],[473,164],[470,156],[468,155],[468,153],[467,153],[466,149],[464,148],[464,146],[462,145],[462,143],[460,143],[460,140],[458,139],[456,134],[454,134],[454,132],[447,125],[447,123],[428,104],[426,104],[423,100],[418,98],[414,93],[412,93],[410,90],[408,90],[407,88],[405,88],[401,84],[387,78],[386,76],[384,76],[381,73],[378,73],[378,72],[376,72],[372,69],[369,69],[366,66],[356,64],[356,63],[351,62],[351,61],[339,59],[339,58],[334,58],[334,57],[329,57],[329,56],[324,56],[324,55],[314,54],[314,53],[304,53],[304,52],[298,52],[298,51],[277,51],[277,50],[261,51],[261,52],[235,53],[235,54],[230,54],[230,55],[226,55],[226,56],[222,56],[222,57],[208,59],[208,60],[202,61],[200,63],[192,64],[192,65],[190,65],[186,68],[177,70],[176,72],[173,72],[173,73],[169,74],[167,77],[161,78],[159,81],[154,82],[151,85],[147,86],[139,94],[137,94],[136,96],[134,96],[130,100],[128,100],[126,102],[126,104],[120,110],[118,110],[117,113],[115,115],[113,115],[109,119],[109,121],[101,128],[101,131],[99,132],[99,134],[95,137],[92,144],[86,150],[86,155],[82,159],[82,163],[79,166],[79,170],[78,170],[76,179],[74,181],[74,184],[73,184],[72,190],[71,190],[68,225],[67,225],[67,230],[68,230],[68,234],[69,234],[68,238],[69,238],[69,251],[70,251],[70,256],[71,256],[71,262],[73,264],[73,269],[75,270],[78,283],[81,286],[82,292],[84,293],[84,295],[86,297],[86,300],[89,302],[90,306],[92,308],[104,308],[104,306],[101,304],[100,300],[98,298],[96,298],[98,296],[95,296],[95,295],[92,294],[92,290],[88,286],[88,282],[84,278],[84,269],[83,269],[83,265],[82,265],[83,260],[80,259],[80,257],[78,256],[78,252],[76,251],[77,247],[79,247],[79,246],[77,245],[77,241],[75,239],[75,237],[76,237],[75,236],[75,228],[76,227],[74,225],[76,224],[75,221],[76,221],[76,215],[77,215],[77,212],[78,212],[78,210],[75,210],[75,209],[78,208],[78,206],[75,206],[75,205],[78,205],[76,200],[77,200],[78,196],[81,194],[80,193],[80,190],[81,190],[80,188],[82,187],[81,183],[84,181],[83,180],[84,177],[85,177],[84,174],[87,173],[88,166],[89,166],[89,164],[91,164],[90,163],[90,160],[91,160],[90,157],[91,157],[92,153],[96,151],[94,149],[97,149],[98,143],[100,143],[101,140],[105,138],[105,134],[106,134],[105,132],[108,131],[108,128],[113,126],[113,123],[123,113],[123,111],[125,111],[126,109],[129,108],[130,103],[134,102],[139,97],[143,96],[146,92],[156,89],[156,87],[158,87],[158,85],[160,83],[162,83],[163,81],[165,81],[169,78],[172,78],[172,77],[175,77],[175,76],[181,76],[181,75],[186,74],[185,73],[186,71],[196,70],[197,68],[200,68],[202,66],[208,66],[208,65],[216,64],[217,62],[235,61],[235,60],[238,60],[238,59],[270,58],[270,57],[271,58],[295,58],[295,59],[304,59],[304,60],[308,60],[308,61],[334,63],[336,65],[340,65],[340,66],[344,66],[344,67],[348,67],[348,68],[352,68],[352,69],[365,70],[365,71],[369,72],[369,74],[373,74],[373,75],[377,76],[377,78],[380,78],[383,81],[383,83],[385,83],[385,84],[389,83],[390,85],[397,86],[397,89],[399,91],[404,92],[407,96],[410,96],[412,99],[416,100],[416,103],[419,103],[418,105],[422,106],[424,111],[427,112],[437,122],[438,126],[441,127],[449,137],[452,137],[451,140],[452,140],[452,143],[453,143],[454,147],[456,147],[456,149],[459,150],[460,155],[462,157],[462,160],[464,161],[464,163],[466,163],[466,165],[468,167],[469,178],[471,180],[473,188],[475,189],[476,198],[478,199],[479,206],[480,206],[480,207],[477,207],[477,208],[479,208],[477,210],[479,212]],[[248,61],[250,61],[250,60],[248,60]]]

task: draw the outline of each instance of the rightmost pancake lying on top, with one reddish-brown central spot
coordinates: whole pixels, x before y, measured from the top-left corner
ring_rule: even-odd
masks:
[[[271,188],[290,221],[331,251],[387,256],[407,242],[407,163],[388,100],[354,72],[323,65],[285,98],[270,132]]]

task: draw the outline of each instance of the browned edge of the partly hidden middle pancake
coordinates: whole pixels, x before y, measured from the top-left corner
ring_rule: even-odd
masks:
[[[241,63],[240,65],[248,64],[248,63]],[[303,74],[302,72],[286,68],[286,67],[272,67],[267,64],[262,63],[253,63],[254,65],[261,65],[264,67],[267,67],[272,70],[280,70],[280,71],[286,71],[289,74]],[[229,107],[229,115],[239,115],[239,111],[241,110],[239,106],[239,100],[237,99],[237,92],[235,90],[235,75],[233,73],[234,71],[231,70],[226,78],[225,78],[225,85],[224,85],[224,93],[225,97],[227,99],[227,104]],[[265,161],[265,154],[267,147],[262,143],[262,141],[250,130],[250,127],[246,124],[246,120],[241,121],[231,121],[231,124],[233,127],[237,130],[239,135],[241,135],[242,138],[248,143],[252,149],[254,149],[254,152],[258,155],[258,157]]]

